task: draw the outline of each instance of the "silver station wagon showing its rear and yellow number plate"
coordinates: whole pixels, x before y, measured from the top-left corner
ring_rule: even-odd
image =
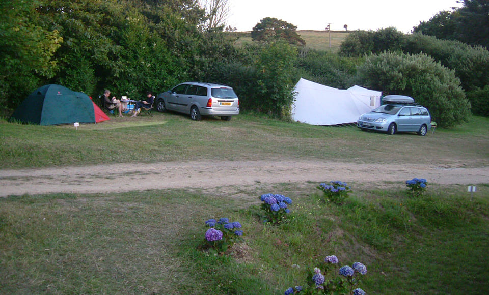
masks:
[[[214,83],[185,82],[158,94],[156,110],[189,114],[192,120],[219,116],[229,121],[239,114],[239,99],[233,88]]]

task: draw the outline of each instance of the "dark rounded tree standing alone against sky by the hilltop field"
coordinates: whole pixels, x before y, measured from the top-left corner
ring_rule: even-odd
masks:
[[[251,31],[251,38],[256,41],[285,40],[289,44],[305,45],[306,41],[296,32],[297,26],[273,17],[265,17]]]

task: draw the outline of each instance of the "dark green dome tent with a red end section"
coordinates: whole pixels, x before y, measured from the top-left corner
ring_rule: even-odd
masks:
[[[10,117],[10,121],[39,125],[96,123],[104,120],[110,119],[88,95],[56,84],[37,88]]]

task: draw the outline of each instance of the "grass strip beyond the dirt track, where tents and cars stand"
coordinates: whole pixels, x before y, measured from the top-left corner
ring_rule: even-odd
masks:
[[[489,120],[471,117],[454,129],[427,136],[361,132],[355,126],[312,126],[263,116],[229,122],[156,113],[73,126],[19,125],[0,121],[0,164],[7,168],[257,159],[317,159],[358,163],[433,163],[441,167],[486,166]]]

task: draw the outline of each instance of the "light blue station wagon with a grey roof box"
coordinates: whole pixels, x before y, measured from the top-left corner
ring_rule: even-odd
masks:
[[[424,136],[431,129],[431,116],[428,110],[414,103],[414,99],[404,95],[386,95],[386,103],[358,118],[357,127],[395,134],[397,132],[416,132]]]

